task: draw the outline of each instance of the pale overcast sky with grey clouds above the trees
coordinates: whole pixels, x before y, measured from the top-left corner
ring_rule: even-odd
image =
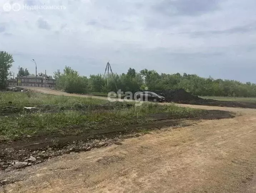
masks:
[[[53,9],[50,9],[53,8]],[[35,74],[158,73],[256,83],[255,0],[0,0],[0,50]]]

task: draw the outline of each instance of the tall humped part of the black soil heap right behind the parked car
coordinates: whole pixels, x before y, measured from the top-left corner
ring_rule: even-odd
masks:
[[[197,96],[194,96],[184,89],[177,90],[154,90],[156,94],[163,95],[165,97],[166,102],[190,102],[192,100],[203,100]]]

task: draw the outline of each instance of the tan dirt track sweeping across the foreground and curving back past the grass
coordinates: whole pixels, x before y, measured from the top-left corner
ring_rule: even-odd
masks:
[[[182,106],[239,116],[197,121],[0,173],[20,179],[0,192],[256,192],[256,110]]]

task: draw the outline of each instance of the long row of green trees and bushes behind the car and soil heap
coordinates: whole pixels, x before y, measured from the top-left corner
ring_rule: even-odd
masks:
[[[155,70],[141,70],[136,72],[129,69],[125,74],[114,74],[103,79],[101,74],[90,75],[89,78],[80,76],[78,71],[65,67],[63,73],[54,73],[56,88],[69,93],[91,93],[109,91],[136,92],[139,90],[172,90],[183,88],[187,92],[199,96],[229,96],[256,97],[256,84],[241,83],[235,80],[202,78],[195,74],[158,74]],[[116,84],[116,86],[115,86]]]

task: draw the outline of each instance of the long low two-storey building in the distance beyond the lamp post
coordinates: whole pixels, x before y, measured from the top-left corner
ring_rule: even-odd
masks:
[[[9,85],[13,86],[37,86],[37,87],[54,87],[55,80],[45,76],[20,76],[14,80],[8,80]]]

